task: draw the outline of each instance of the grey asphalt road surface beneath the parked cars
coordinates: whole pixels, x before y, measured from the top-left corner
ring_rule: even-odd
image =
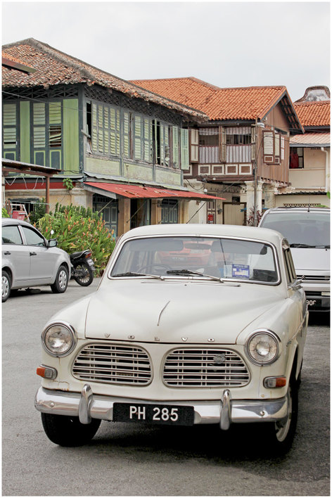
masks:
[[[58,309],[94,291],[19,291],[2,307],[4,496],[328,496],[329,324],[312,317],[302,369],[298,429],[286,457],[257,450],[251,426],[142,428],[102,422],[84,447],[53,445],[34,409],[40,334]]]

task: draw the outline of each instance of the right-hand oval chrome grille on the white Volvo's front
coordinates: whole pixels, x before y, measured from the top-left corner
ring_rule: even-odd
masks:
[[[241,387],[249,380],[243,359],[224,348],[173,350],[164,364],[163,381],[172,387]]]

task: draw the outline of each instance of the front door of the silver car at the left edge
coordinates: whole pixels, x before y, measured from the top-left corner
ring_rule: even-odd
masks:
[[[21,226],[30,254],[30,285],[52,283],[57,255],[47,248],[44,237],[30,226]]]

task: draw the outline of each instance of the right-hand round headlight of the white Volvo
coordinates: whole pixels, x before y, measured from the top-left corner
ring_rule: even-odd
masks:
[[[268,365],[279,357],[279,340],[272,332],[260,331],[250,337],[246,349],[253,363]]]

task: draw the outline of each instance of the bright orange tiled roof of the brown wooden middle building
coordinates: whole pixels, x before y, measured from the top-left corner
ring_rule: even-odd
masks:
[[[286,87],[219,88],[194,77],[134,79],[133,83],[202,110],[210,120],[262,119],[285,94]]]

